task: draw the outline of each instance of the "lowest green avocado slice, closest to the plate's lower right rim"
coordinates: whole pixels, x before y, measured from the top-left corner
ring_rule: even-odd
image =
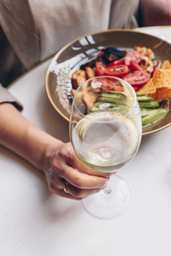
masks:
[[[153,123],[153,121],[158,120],[162,116],[167,114],[167,110],[164,108],[158,108],[155,110],[148,111],[148,116],[142,117],[142,125],[147,125]]]

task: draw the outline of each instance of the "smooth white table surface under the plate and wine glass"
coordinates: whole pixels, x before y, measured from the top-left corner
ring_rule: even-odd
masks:
[[[171,27],[142,31],[170,37]],[[23,116],[68,142],[69,123],[56,113],[45,92],[49,63],[32,69],[9,91],[23,103]],[[0,146],[0,255],[169,255],[170,132],[168,127],[143,137],[137,156],[120,170],[118,176],[129,184],[132,198],[129,208],[114,219],[98,219],[80,201],[53,195],[42,173]]]

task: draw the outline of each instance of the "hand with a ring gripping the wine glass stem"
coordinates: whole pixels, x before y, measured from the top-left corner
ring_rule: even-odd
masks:
[[[49,144],[45,148],[42,163],[50,191],[75,200],[81,200],[104,189],[113,174],[99,173],[83,165],[75,155],[71,143]],[[68,185],[65,192],[66,182]]]

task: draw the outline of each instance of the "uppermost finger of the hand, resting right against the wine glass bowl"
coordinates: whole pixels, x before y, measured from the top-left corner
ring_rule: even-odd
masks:
[[[102,176],[102,177],[110,177],[112,176],[116,171],[113,173],[102,173],[97,170],[91,169],[87,165],[84,165],[83,162],[80,161],[80,159],[75,155],[75,151],[73,148],[70,148],[68,153],[65,156],[66,163],[71,165],[73,168],[80,170],[83,173],[87,173],[88,175],[93,176]]]

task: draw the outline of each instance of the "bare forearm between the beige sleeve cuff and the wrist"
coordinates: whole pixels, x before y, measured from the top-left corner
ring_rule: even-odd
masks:
[[[0,104],[0,144],[42,170],[42,155],[48,144],[61,143],[31,124],[10,103]]]

